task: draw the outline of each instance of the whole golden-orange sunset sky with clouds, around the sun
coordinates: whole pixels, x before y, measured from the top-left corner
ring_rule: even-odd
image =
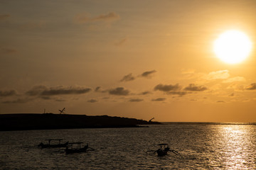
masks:
[[[0,113],[256,122],[256,1],[0,0]],[[213,42],[240,30],[250,55]]]

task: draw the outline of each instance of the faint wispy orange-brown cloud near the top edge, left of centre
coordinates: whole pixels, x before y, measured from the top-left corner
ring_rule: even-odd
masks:
[[[98,21],[113,22],[119,20],[120,16],[115,12],[109,12],[90,18],[88,13],[81,13],[75,16],[75,23],[93,23]]]

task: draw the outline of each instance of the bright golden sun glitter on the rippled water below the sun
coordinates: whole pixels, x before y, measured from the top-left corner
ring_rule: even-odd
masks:
[[[249,127],[249,128],[248,128]],[[252,128],[248,125],[219,126],[215,137],[218,150],[216,159],[225,169],[251,169],[255,155]],[[253,149],[252,149],[253,148]],[[254,164],[254,162],[252,162]],[[220,166],[220,167],[221,167]],[[254,167],[255,168],[255,167]]]

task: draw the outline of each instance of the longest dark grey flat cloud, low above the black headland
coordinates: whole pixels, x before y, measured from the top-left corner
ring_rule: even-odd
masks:
[[[69,95],[69,94],[86,94],[92,89],[84,87],[50,87],[46,86],[34,86],[33,89],[27,91],[26,94],[29,96],[55,96],[55,95]]]

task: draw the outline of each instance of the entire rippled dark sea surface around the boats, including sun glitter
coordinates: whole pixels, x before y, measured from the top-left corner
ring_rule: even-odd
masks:
[[[48,138],[95,151],[38,149]],[[179,154],[146,154],[169,143]],[[149,128],[0,132],[0,169],[256,169],[256,125],[169,124]]]

